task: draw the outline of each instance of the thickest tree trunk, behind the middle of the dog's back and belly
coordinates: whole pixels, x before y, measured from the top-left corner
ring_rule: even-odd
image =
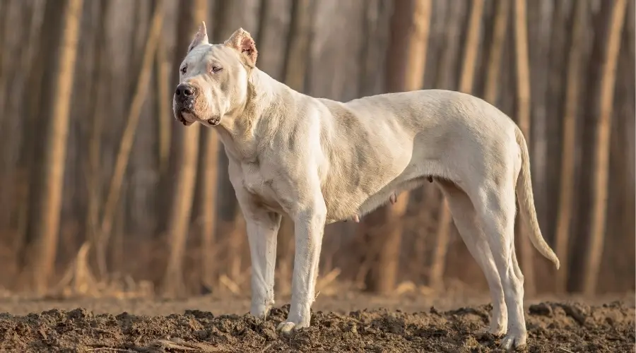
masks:
[[[430,12],[431,1],[394,1],[385,71],[389,92],[422,88]],[[406,212],[407,201],[408,193],[402,193],[392,208],[384,206],[370,215],[381,220],[387,234],[377,239],[378,258],[367,277],[367,290],[388,294],[395,287],[401,251],[401,218]]]

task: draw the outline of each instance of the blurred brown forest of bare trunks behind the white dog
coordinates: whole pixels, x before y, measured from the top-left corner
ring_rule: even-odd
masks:
[[[471,92],[529,143],[555,271],[517,251],[526,297],[635,289],[634,0],[0,0],[0,286],[35,295],[249,293],[212,128],[172,116],[201,20],[309,95]],[[289,292],[293,234],[278,238]],[[432,184],[326,227],[319,287],[487,290]],[[320,289],[320,288],[319,288]],[[132,295],[132,294],[131,294]]]

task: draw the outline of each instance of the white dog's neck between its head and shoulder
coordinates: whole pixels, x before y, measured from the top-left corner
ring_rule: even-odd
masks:
[[[216,127],[228,157],[257,162],[259,140],[265,140],[278,125],[276,92],[284,87],[258,68],[249,72],[245,102],[225,114]],[[262,119],[268,119],[268,124],[259,124]]]

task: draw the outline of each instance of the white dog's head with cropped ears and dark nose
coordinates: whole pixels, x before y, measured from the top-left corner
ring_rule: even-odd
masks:
[[[243,107],[257,55],[254,40],[242,28],[223,44],[210,44],[201,23],[179,66],[179,85],[172,97],[175,119],[185,126],[196,122],[216,126],[223,116]]]

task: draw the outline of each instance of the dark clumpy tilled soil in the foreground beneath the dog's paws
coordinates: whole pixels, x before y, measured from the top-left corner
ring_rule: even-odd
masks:
[[[288,306],[266,321],[249,315],[185,311],[170,316],[94,315],[53,309],[0,314],[3,352],[499,352],[499,339],[476,332],[490,306],[404,313],[316,312],[292,337],[276,333]],[[634,352],[635,309],[622,302],[587,306],[543,302],[529,307],[527,352]]]

